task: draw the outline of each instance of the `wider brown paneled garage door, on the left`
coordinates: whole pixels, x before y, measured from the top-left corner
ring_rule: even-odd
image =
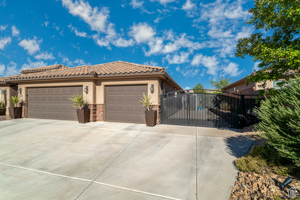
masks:
[[[82,86],[28,88],[28,118],[77,120],[69,97],[82,91]]]

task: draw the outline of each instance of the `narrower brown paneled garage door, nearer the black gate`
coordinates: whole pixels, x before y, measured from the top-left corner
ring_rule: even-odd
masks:
[[[105,87],[105,121],[146,123],[145,108],[139,103],[147,85]]]

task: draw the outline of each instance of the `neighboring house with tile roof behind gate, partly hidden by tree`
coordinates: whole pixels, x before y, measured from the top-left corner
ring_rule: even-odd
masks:
[[[276,85],[279,82],[282,82],[286,78],[290,78],[294,76],[295,74],[298,74],[294,71],[289,71],[288,73],[283,73],[282,77],[278,79],[278,81],[266,81],[264,87],[259,87],[258,85],[261,85],[262,83],[256,83],[251,82],[249,85],[246,85],[246,79],[248,76],[239,79],[238,81],[235,81],[229,85],[226,85],[222,88],[225,92],[231,92],[233,94],[259,94],[259,90],[264,90],[265,88],[275,88],[278,89],[278,86]],[[254,73],[251,73],[251,75],[254,75]],[[250,75],[250,76],[251,76]]]

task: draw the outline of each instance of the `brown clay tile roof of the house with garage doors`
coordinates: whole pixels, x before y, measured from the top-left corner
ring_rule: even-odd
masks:
[[[107,76],[107,75],[124,75],[124,74],[139,74],[139,73],[166,73],[174,82],[176,82],[167,72],[164,67],[155,67],[144,64],[136,64],[124,61],[116,61],[96,65],[82,65],[78,67],[66,67],[63,65],[51,65],[46,67],[37,67],[32,69],[21,70],[19,75],[6,76],[0,78],[0,82],[34,79],[34,78],[49,78],[49,77],[65,77],[65,76]],[[177,83],[177,82],[176,82]],[[178,84],[178,83],[177,83]]]

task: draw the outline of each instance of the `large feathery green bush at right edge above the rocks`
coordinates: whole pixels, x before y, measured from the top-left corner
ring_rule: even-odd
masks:
[[[300,77],[295,78],[256,108],[261,122],[255,127],[280,156],[300,166]]]

